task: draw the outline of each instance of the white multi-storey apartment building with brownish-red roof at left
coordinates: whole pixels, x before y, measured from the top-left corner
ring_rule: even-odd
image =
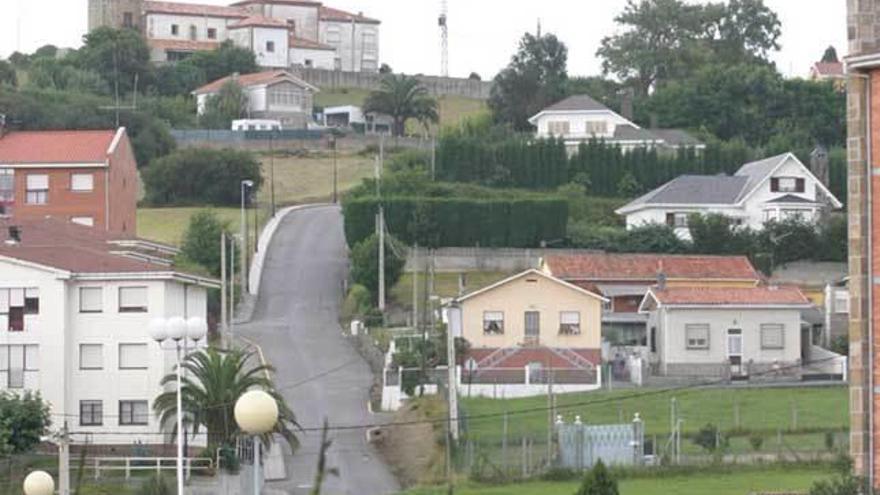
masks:
[[[0,220],[0,390],[39,391],[53,428],[98,445],[167,442],[153,413],[175,354],[156,317],[206,318],[214,280],[63,219]],[[138,254],[140,253],[140,254]]]

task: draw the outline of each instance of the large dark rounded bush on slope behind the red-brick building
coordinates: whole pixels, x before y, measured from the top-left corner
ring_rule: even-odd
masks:
[[[178,150],[143,171],[146,202],[152,205],[237,205],[241,181],[263,183],[260,163],[253,154],[237,150]]]

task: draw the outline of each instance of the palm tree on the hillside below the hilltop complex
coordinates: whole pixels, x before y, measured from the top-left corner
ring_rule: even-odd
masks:
[[[404,74],[388,74],[382,78],[379,89],[367,96],[364,102],[367,112],[390,115],[392,134],[401,136],[406,121],[416,119],[422,125],[437,122],[437,100],[428,96],[428,90],[415,77]]]

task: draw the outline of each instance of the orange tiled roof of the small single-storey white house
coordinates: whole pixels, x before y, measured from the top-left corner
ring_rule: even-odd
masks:
[[[795,287],[669,287],[652,289],[664,305],[740,306],[785,305],[809,307],[810,300]]]

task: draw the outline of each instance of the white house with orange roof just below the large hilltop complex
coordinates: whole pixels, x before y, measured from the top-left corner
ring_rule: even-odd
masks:
[[[277,120],[285,129],[305,129],[312,121],[318,88],[284,70],[233,74],[196,89],[193,94],[199,115],[205,113],[208,98],[229,81],[235,81],[247,94],[248,119]]]

